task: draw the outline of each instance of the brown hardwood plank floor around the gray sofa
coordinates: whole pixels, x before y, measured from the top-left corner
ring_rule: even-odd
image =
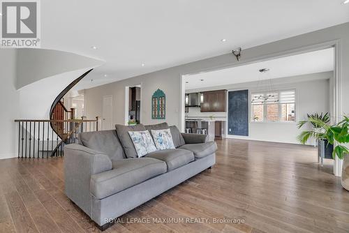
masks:
[[[316,149],[217,144],[211,170],[126,213],[106,232],[349,232],[349,192],[331,174],[331,160],[319,167]],[[99,232],[64,195],[63,162],[0,160],[0,232]],[[226,223],[234,219],[240,223]]]

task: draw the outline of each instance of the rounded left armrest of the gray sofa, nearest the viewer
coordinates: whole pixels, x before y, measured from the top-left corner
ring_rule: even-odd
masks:
[[[66,195],[90,217],[92,196],[91,175],[112,170],[110,158],[80,144],[64,147],[64,180]]]

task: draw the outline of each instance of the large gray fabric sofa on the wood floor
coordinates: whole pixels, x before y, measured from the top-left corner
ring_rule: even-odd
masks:
[[[64,149],[66,195],[101,230],[113,219],[177,186],[216,163],[216,143],[207,135],[179,133],[176,126],[116,126],[81,133],[80,144]],[[130,130],[170,128],[176,149],[137,158]]]

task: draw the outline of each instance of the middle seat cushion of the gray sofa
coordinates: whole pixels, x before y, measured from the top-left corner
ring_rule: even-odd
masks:
[[[146,157],[165,161],[168,167],[168,172],[195,160],[193,152],[183,149],[165,149],[161,151],[154,151],[149,153]]]

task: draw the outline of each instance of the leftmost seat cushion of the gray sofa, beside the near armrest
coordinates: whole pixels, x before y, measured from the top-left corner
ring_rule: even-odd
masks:
[[[91,176],[91,194],[103,199],[166,171],[166,163],[155,158],[113,160],[112,170]]]

